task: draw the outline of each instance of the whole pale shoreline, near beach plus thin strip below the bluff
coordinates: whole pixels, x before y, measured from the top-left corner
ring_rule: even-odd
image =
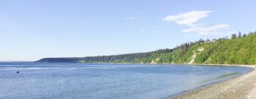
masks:
[[[65,63],[63,63],[65,64]],[[85,64],[85,63],[78,63]],[[99,63],[92,63],[99,64]],[[123,64],[123,63],[100,63],[100,64]],[[126,63],[130,64],[130,63]],[[161,64],[149,64],[149,65],[161,65]],[[163,64],[172,65],[172,64]],[[191,98],[256,98],[256,65],[244,65],[244,64],[176,64],[176,65],[194,65],[194,66],[242,66],[250,68],[251,71],[235,76],[234,78],[228,78],[223,81],[216,81],[208,83],[203,86],[198,86],[188,91],[182,91],[176,95],[172,95],[169,98],[175,99],[191,99]],[[167,97],[166,97],[167,98]]]

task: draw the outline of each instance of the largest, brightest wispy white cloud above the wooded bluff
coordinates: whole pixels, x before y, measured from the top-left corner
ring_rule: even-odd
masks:
[[[223,34],[221,30],[227,29],[230,27],[228,24],[217,24],[217,25],[198,25],[198,22],[201,18],[206,18],[208,14],[213,11],[189,11],[185,13],[179,13],[176,15],[166,16],[163,18],[166,22],[175,22],[178,25],[187,25],[188,29],[181,30],[184,33],[196,32],[201,35],[218,35]]]

